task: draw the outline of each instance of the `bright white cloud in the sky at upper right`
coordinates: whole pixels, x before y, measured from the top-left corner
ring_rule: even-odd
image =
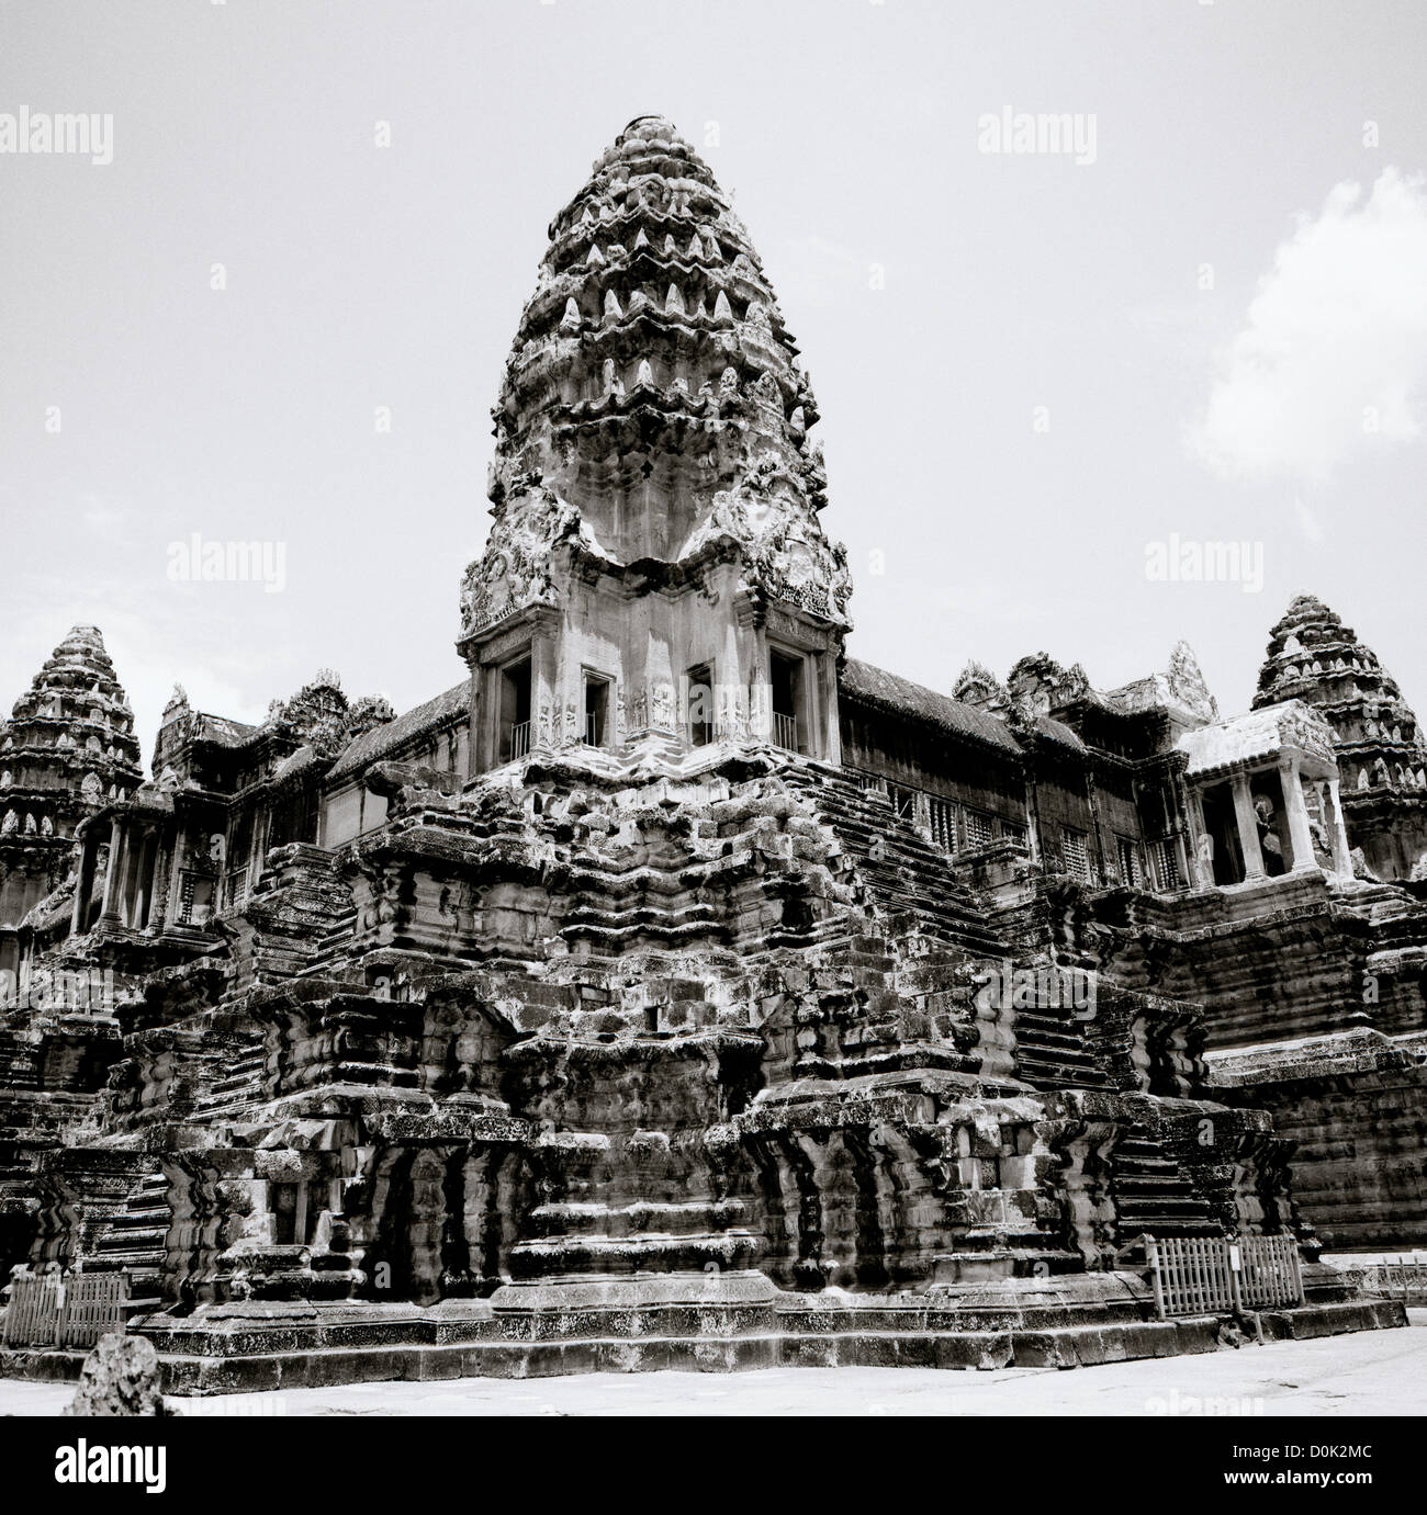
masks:
[[[1274,255],[1190,448],[1233,479],[1319,482],[1359,447],[1419,435],[1427,192],[1388,168],[1341,183]]]

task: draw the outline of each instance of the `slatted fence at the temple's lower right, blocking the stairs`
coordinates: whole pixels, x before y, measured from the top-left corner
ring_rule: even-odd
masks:
[[[1145,1236],[1160,1320],[1303,1303],[1292,1236]]]

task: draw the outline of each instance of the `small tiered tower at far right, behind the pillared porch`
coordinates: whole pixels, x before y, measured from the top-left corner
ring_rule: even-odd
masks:
[[[1382,879],[1427,854],[1427,748],[1397,680],[1321,600],[1300,594],[1269,635],[1254,709],[1316,706],[1336,733],[1348,836]]]

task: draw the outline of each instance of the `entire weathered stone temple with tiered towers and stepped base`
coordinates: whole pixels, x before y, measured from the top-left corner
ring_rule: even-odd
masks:
[[[5,1277],[123,1270],[180,1392],[1212,1348],[1145,1236],[1400,1324],[1319,1260],[1427,1218],[1427,758],[1354,633],[1295,600],[1233,718],[1183,644],[848,656],[807,373],[658,117],[493,415],[425,704],[176,692],[144,777],[76,627],[0,726]]]

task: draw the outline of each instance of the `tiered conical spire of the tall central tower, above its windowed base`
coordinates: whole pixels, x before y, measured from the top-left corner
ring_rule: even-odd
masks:
[[[722,533],[751,554],[787,545],[792,579],[816,579],[842,618],[846,568],[816,523],[817,405],[708,165],[663,117],[638,117],[549,235],[493,411],[507,570],[522,524],[619,564],[679,562]]]

